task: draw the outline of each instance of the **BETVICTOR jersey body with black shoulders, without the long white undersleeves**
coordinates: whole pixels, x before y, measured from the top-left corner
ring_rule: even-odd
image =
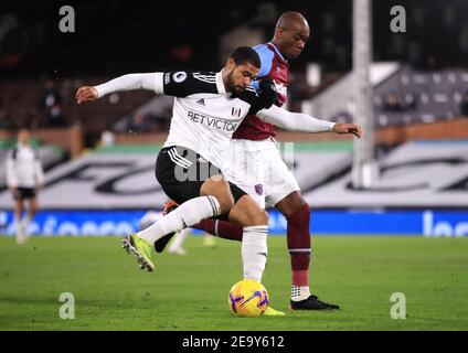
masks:
[[[164,147],[181,146],[222,168],[222,152],[247,114],[256,114],[259,97],[249,86],[241,95],[226,94],[220,73],[176,72],[159,76],[162,93],[176,96]],[[158,78],[156,78],[158,79]]]

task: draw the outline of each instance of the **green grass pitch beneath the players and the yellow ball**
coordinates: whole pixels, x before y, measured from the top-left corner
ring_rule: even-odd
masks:
[[[268,242],[263,282],[287,315],[247,319],[227,307],[238,243],[189,237],[187,256],[158,255],[148,274],[118,237],[0,237],[0,330],[468,330],[468,238],[315,237],[311,288],[334,312],[287,309],[286,239]],[[63,292],[75,297],[73,320],[59,315]],[[406,297],[405,320],[390,315],[393,292]]]

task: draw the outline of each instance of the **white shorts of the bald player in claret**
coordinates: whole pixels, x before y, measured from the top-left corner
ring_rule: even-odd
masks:
[[[251,141],[231,140],[223,153],[226,179],[251,195],[260,206],[275,206],[295,191],[296,178],[283,161],[274,139]]]

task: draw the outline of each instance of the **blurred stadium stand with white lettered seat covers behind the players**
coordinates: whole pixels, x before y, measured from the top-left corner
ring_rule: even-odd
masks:
[[[76,33],[57,30],[62,6],[57,1],[30,6],[7,0],[0,6],[0,210],[11,207],[11,195],[4,190],[4,157],[22,127],[33,129],[46,168],[60,163],[46,172],[44,210],[162,206],[166,197],[153,182],[152,169],[155,153],[167,137],[172,98],[129,92],[78,107],[77,87],[131,72],[217,71],[233,46],[270,40],[285,10],[300,11],[311,26],[310,42],[291,62],[288,109],[341,122],[353,118],[350,0],[241,0],[230,3],[228,10],[214,1],[182,0],[71,0],[67,4],[75,9]],[[406,33],[389,29],[393,6],[406,9]],[[468,1],[379,0],[373,1],[372,12],[380,180],[374,190],[350,186],[350,137],[278,131],[279,141],[298,142],[291,167],[306,200],[319,208],[466,208]],[[56,153],[55,147],[63,152]],[[71,160],[61,163],[63,156]],[[47,228],[51,216],[61,220],[65,229],[77,214],[41,215],[41,227],[52,229]],[[419,229],[421,215],[415,216],[417,227],[392,232]],[[82,216],[83,224],[92,217]],[[445,216],[434,213],[435,220]],[[7,220],[7,213],[0,218]],[[128,231],[118,229],[121,220],[115,215],[102,216],[103,229],[110,218],[115,228],[96,232]],[[279,218],[272,214],[278,224]],[[326,223],[333,224],[332,220]],[[372,232],[380,232],[381,224],[376,222]],[[61,233],[57,229],[51,232]]]

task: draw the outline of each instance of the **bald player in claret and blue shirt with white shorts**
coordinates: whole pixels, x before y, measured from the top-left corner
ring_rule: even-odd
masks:
[[[297,57],[310,36],[307,20],[298,12],[285,12],[277,21],[272,42],[254,47],[262,60],[258,79],[273,79],[278,90],[277,106],[287,100],[288,60]],[[254,86],[258,81],[254,83]],[[336,125],[336,132],[342,127]],[[287,246],[291,266],[290,308],[294,310],[332,310],[339,306],[323,302],[311,295],[309,265],[311,242],[310,210],[300,188],[276,148],[276,132],[272,124],[248,115],[233,133],[231,151],[236,159],[224,175],[245,190],[262,207],[275,206],[287,220]],[[243,158],[240,158],[242,156]],[[236,163],[237,161],[237,163]],[[170,210],[170,208],[169,208]],[[221,220],[204,220],[194,225],[215,236],[242,240],[242,228]],[[160,249],[157,249],[160,250]]]

